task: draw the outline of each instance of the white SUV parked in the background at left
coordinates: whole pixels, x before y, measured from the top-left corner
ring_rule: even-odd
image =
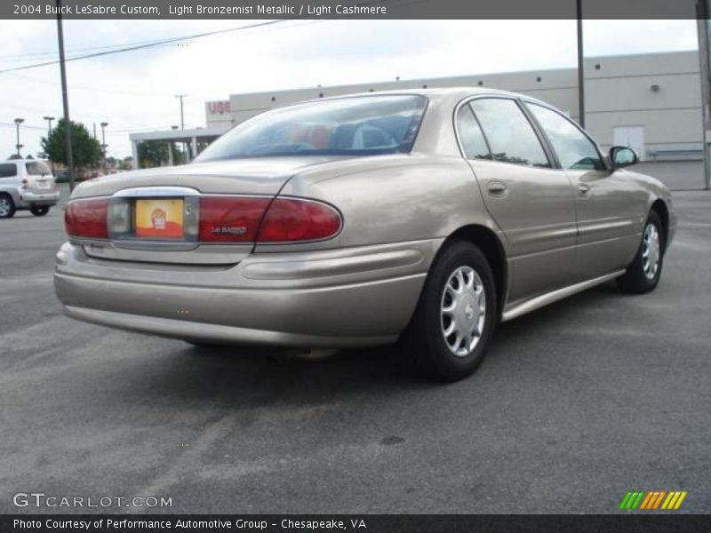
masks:
[[[46,163],[26,159],[0,163],[0,219],[26,209],[43,217],[59,201],[60,191]]]

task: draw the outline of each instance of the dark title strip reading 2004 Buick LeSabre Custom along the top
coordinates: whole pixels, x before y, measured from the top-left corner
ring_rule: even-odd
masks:
[[[708,0],[3,0],[0,19],[698,19]]]

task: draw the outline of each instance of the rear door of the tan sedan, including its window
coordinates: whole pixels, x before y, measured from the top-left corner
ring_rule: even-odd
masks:
[[[484,97],[459,107],[462,150],[483,201],[507,239],[508,302],[571,282],[577,234],[571,180],[515,99]]]

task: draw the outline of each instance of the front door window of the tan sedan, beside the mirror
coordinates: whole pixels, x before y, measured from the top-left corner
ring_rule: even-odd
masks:
[[[603,160],[597,148],[571,121],[547,107],[526,104],[546,131],[563,169],[601,170]]]

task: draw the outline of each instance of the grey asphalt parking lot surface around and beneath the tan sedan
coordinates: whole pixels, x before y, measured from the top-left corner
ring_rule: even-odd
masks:
[[[433,385],[388,350],[323,362],[74,322],[52,290],[62,212],[0,220],[0,513],[17,492],[172,497],[185,513],[617,513],[686,490],[711,513],[711,195],[658,290],[614,283],[499,328]],[[143,512],[108,508],[104,512]]]

